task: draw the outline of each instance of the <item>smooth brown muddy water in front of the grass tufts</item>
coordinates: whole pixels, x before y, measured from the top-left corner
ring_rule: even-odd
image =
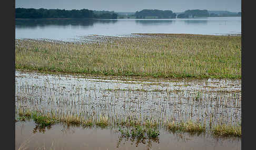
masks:
[[[241,149],[241,138],[215,138],[211,135],[161,132],[157,141],[121,138],[116,130],[100,127],[67,127],[54,125],[44,132],[36,131],[33,122],[15,125],[16,149]]]

